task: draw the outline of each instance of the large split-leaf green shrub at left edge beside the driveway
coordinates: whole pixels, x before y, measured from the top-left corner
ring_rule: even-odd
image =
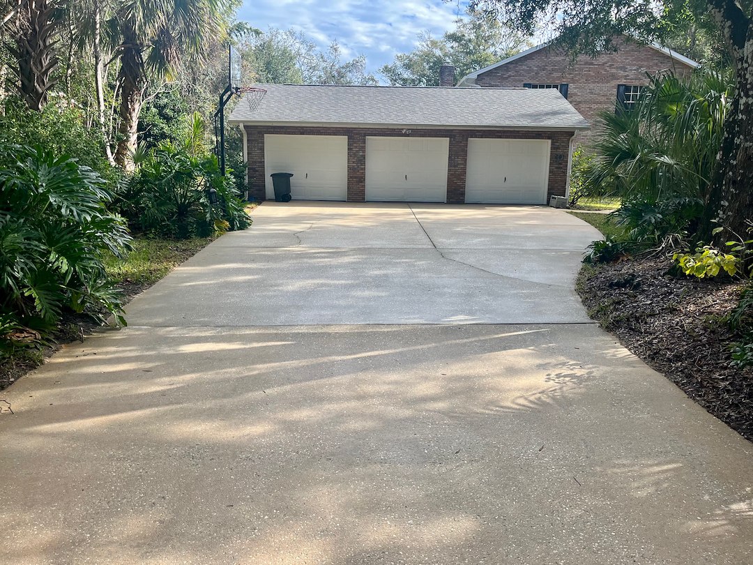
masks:
[[[102,179],[44,148],[3,145],[0,160],[0,316],[5,334],[49,331],[65,310],[101,311],[120,324],[120,296],[102,257],[120,255],[130,236],[106,209]]]

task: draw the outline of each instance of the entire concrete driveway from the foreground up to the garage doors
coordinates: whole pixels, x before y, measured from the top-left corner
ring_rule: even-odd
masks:
[[[588,321],[594,236],[264,204],[2,395],[0,561],[753,562],[751,446]]]

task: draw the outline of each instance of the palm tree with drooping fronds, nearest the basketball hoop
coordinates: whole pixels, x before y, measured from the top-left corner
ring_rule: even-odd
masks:
[[[203,57],[227,35],[235,0],[120,0],[109,22],[120,35],[120,139],[115,162],[133,170],[139,112],[149,78],[172,77],[187,56]]]

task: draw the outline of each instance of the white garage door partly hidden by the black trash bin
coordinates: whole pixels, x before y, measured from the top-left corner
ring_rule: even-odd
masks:
[[[293,173],[294,200],[347,200],[346,136],[264,136],[267,198],[274,198],[272,173]]]

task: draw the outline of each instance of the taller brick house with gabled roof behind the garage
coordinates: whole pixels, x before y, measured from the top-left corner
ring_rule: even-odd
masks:
[[[616,104],[630,106],[648,84],[648,74],[672,71],[686,75],[699,63],[662,47],[640,44],[629,38],[617,41],[616,53],[592,58],[580,56],[573,64],[562,51],[547,43],[511,56],[484,69],[466,75],[459,87],[526,87],[556,89],[586,120],[588,132],[578,134],[579,143],[587,143],[598,134],[597,114],[613,111]]]

